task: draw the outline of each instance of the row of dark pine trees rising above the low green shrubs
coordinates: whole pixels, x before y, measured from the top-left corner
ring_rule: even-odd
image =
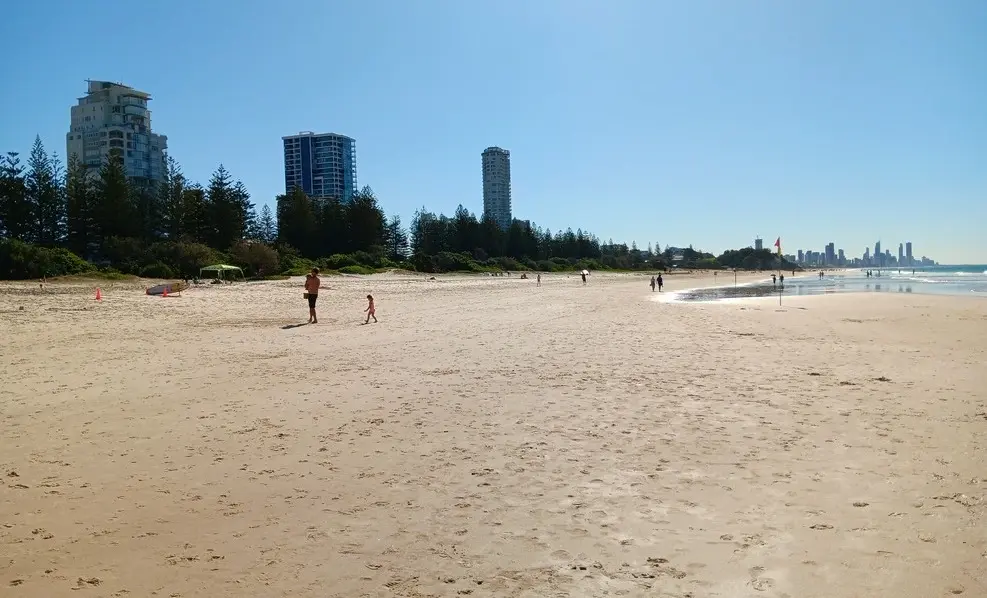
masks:
[[[275,205],[276,215],[266,204],[258,213],[246,187],[222,165],[200,185],[169,157],[163,181],[141,183],[127,177],[117,156],[96,173],[74,156],[63,167],[40,138],[26,161],[17,153],[0,159],[0,237],[64,247],[93,262],[119,259],[113,248],[121,242],[197,243],[226,252],[243,240],[310,260],[354,253],[375,256],[374,263],[415,257],[413,263],[425,269],[439,266],[423,256],[440,254],[477,263],[510,259],[529,267],[594,260],[605,267],[640,268],[656,265],[660,257],[660,249],[653,251],[650,244],[638,251],[634,244],[601,243],[581,229],[552,233],[514,220],[503,230],[462,205],[452,217],[422,208],[407,230],[397,215],[386,218],[369,187],[346,203],[295,190]]]

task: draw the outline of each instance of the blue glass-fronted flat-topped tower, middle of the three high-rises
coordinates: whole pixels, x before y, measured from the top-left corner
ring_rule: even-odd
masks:
[[[356,195],[356,141],[336,133],[302,131],[284,141],[284,190],[299,188],[309,197]]]

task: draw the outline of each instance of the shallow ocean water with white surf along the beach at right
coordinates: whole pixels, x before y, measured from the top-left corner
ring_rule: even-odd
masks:
[[[799,272],[785,276],[785,284],[773,285],[771,274],[764,281],[694,289],[675,293],[678,301],[718,301],[750,297],[825,295],[831,293],[916,293],[921,295],[963,295],[987,299],[987,265],[933,266],[927,268],[871,270],[822,270]],[[880,275],[878,275],[880,274]]]

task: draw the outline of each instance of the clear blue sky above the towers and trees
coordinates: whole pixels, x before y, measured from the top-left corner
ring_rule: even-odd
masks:
[[[3,151],[64,154],[109,79],[152,94],[187,175],[222,162],[258,205],[283,135],[333,131],[406,223],[481,211],[498,145],[515,217],[553,230],[987,262],[982,0],[15,0],[0,50]]]

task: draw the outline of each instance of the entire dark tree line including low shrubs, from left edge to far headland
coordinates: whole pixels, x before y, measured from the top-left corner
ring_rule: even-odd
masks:
[[[37,138],[25,162],[16,152],[0,159],[0,278],[93,267],[190,277],[216,262],[266,276],[315,265],[353,273],[633,270],[662,268],[676,259],[657,243],[639,250],[634,243],[601,242],[582,229],[552,232],[514,220],[504,230],[461,205],[451,217],[423,207],[405,228],[397,215],[386,217],[370,187],[345,203],[295,189],[279,195],[275,206],[276,213],[267,205],[258,212],[243,183],[222,165],[201,185],[169,157],[163,179],[151,182],[128,177],[119,153],[98,169],[76,156],[63,166]],[[770,261],[770,255],[749,257],[739,260],[743,267]],[[691,248],[685,258],[679,256],[678,263],[688,267],[738,262],[737,256],[724,254],[718,261]]]

